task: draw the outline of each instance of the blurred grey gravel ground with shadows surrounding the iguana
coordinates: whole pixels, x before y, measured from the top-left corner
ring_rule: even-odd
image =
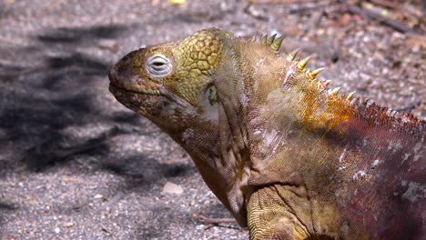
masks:
[[[248,239],[188,155],[119,105],[107,71],[218,27],[279,34],[342,93],[426,119],[421,0],[0,0],[1,239]]]

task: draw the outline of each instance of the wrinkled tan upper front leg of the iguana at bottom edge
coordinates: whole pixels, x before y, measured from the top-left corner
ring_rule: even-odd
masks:
[[[330,228],[330,223],[324,223],[321,235],[316,233],[315,226],[311,224],[313,205],[315,204],[309,202],[304,186],[260,187],[249,197],[250,239],[334,239],[337,236],[337,227]],[[323,215],[316,219],[317,227],[321,225],[320,222],[334,222],[333,210],[324,205],[321,207],[325,214],[331,217]]]

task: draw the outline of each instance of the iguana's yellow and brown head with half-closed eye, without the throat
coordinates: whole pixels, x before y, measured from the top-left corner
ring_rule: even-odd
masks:
[[[217,95],[211,76],[218,68],[222,40],[232,35],[202,30],[187,38],[141,48],[124,56],[109,72],[117,100],[166,130],[212,118]],[[191,120],[192,119],[192,120]]]

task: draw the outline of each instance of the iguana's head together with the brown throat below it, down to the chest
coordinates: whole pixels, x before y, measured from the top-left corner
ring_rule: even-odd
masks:
[[[133,51],[109,72],[109,91],[118,102],[147,117],[183,146],[228,209],[225,189],[233,179],[214,167],[219,159],[219,130],[213,78],[230,38],[226,31],[202,30],[183,40]],[[245,215],[235,215],[244,225]]]

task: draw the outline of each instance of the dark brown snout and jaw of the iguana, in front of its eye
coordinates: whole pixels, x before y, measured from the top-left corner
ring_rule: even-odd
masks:
[[[117,101],[146,116],[149,120],[166,130],[183,129],[183,123],[193,111],[185,101],[170,93],[163,85],[161,77],[152,77],[148,71],[165,73],[172,71],[164,59],[146,60],[147,49],[141,48],[124,56],[109,71],[109,91]],[[147,61],[151,61],[150,63]],[[161,62],[163,61],[163,62]],[[144,65],[144,69],[141,69]],[[149,68],[148,67],[152,67]]]

